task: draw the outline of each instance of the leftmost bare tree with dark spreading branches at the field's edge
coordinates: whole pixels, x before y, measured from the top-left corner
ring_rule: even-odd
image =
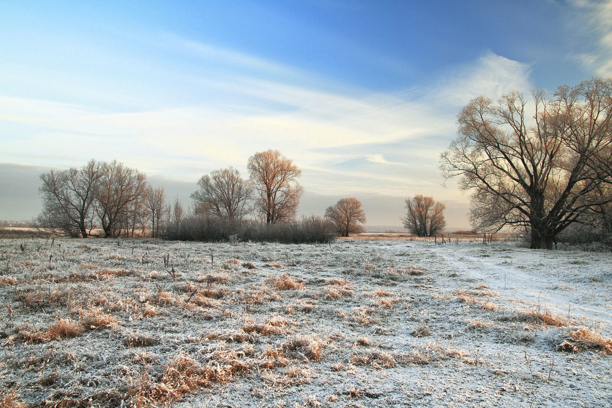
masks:
[[[59,234],[88,237],[96,227],[93,205],[100,176],[100,163],[93,159],[80,169],[41,174],[43,211],[36,224]]]

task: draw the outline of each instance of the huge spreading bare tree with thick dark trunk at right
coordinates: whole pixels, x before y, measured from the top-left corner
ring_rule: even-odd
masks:
[[[472,226],[526,228],[531,248],[550,249],[565,228],[612,201],[594,194],[612,184],[612,78],[560,86],[552,100],[543,91],[532,98],[532,119],[517,92],[498,103],[471,100],[440,167],[472,192]]]

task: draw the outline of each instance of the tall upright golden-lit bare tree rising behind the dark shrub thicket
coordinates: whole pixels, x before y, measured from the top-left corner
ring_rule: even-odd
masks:
[[[266,150],[248,158],[247,168],[251,185],[259,193],[256,206],[266,224],[294,220],[303,190],[297,183],[302,171],[293,161],[278,150]]]

